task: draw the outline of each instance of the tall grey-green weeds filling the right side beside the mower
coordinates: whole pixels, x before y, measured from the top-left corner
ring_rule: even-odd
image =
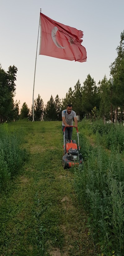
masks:
[[[82,130],[80,132],[85,161],[75,168],[75,188],[81,204],[89,213],[87,226],[96,244],[97,255],[110,256],[114,251],[115,255],[124,255],[124,159],[119,147],[122,128],[118,125],[108,130],[108,134],[112,129],[115,134],[120,131],[110,152],[99,145],[91,147]]]

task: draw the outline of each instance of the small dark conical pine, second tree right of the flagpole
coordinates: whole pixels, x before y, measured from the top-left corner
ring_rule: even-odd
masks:
[[[56,109],[55,109],[55,101],[53,96],[51,95],[50,100],[47,101],[44,109],[44,118],[49,121],[56,120]]]

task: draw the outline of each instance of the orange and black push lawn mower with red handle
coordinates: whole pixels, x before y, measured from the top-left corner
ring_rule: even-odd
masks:
[[[69,127],[74,127],[70,125]],[[75,127],[76,128],[76,127]],[[65,133],[66,126],[64,128]],[[78,128],[77,130],[77,136],[78,136]],[[79,165],[82,164],[82,154],[79,153],[80,146],[79,146],[79,136],[78,136],[78,147],[75,140],[66,140],[64,138],[64,156],[62,158],[62,164],[63,168],[66,169],[67,167],[71,167],[73,165]]]

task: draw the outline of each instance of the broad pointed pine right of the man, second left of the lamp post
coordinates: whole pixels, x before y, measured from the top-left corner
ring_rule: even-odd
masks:
[[[88,115],[92,113],[92,109],[96,107],[99,109],[100,97],[98,94],[98,88],[95,84],[91,75],[88,74],[86,80],[84,81],[83,91],[82,91],[82,109]]]

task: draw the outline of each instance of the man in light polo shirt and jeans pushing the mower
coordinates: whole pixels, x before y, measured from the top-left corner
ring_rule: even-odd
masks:
[[[64,134],[65,141],[72,139],[72,133],[73,133],[73,127],[69,127],[69,125],[73,125],[73,118],[75,125],[74,127],[78,127],[78,120],[76,117],[75,111],[72,110],[72,105],[68,104],[67,109],[64,109],[62,111],[62,131],[64,130],[64,127],[66,127]]]

